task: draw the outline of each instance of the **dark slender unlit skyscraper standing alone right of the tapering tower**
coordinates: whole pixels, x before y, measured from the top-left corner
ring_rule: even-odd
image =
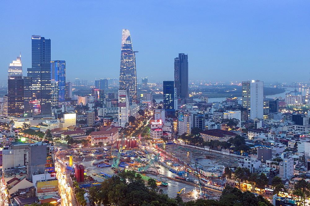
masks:
[[[175,58],[175,81],[176,95],[178,98],[188,98],[188,55],[180,53]]]

